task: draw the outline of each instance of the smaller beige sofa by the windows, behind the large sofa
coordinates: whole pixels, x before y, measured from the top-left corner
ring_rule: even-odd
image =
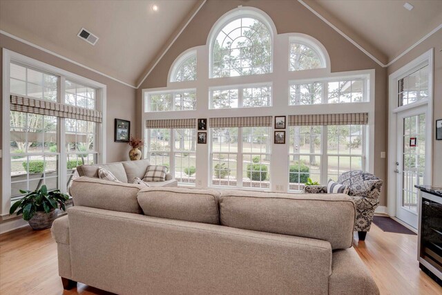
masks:
[[[80,176],[87,176],[90,178],[98,178],[98,167],[103,167],[117,178],[117,180],[124,183],[133,183],[135,177],[143,179],[146,174],[147,167],[150,165],[149,160],[125,161],[115,162],[109,164],[92,164],[77,166],[77,172]],[[170,173],[166,174],[165,181],[146,182],[149,187],[177,187],[178,182]]]

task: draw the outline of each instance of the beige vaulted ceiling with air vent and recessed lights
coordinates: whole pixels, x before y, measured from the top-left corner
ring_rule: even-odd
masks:
[[[220,0],[208,0],[220,1]],[[295,1],[295,0],[292,0]],[[387,64],[442,23],[441,0],[300,1]],[[0,1],[0,29],[137,86],[203,0]],[[269,1],[275,5],[276,1]],[[158,10],[153,11],[153,5]],[[244,1],[253,6],[253,0]],[[77,37],[86,28],[91,46]]]

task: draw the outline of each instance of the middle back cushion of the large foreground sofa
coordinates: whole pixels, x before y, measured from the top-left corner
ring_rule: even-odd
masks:
[[[151,187],[138,193],[144,215],[213,225],[220,224],[219,198],[219,191],[183,187]]]

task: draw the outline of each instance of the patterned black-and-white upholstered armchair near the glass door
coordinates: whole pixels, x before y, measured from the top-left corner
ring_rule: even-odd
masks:
[[[358,231],[359,240],[365,240],[367,231],[372,226],[374,209],[379,204],[383,181],[371,173],[353,170],[339,175],[338,183],[349,187],[348,195],[356,205],[354,231]],[[327,193],[327,186],[307,185],[304,193]]]

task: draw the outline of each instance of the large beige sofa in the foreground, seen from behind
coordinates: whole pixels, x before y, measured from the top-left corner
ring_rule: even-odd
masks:
[[[347,195],[153,187],[81,177],[55,220],[64,287],[117,294],[378,294]]]

